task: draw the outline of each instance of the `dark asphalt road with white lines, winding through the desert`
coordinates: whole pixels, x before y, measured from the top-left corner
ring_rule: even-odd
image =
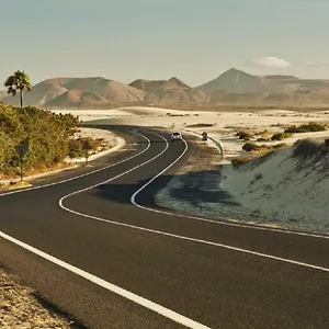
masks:
[[[2,194],[2,265],[88,328],[328,329],[329,239],[156,208],[195,146],[140,134],[92,168]]]

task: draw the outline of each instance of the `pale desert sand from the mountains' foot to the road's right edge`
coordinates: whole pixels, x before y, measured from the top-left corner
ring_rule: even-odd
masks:
[[[203,200],[200,203],[191,200],[178,200],[174,191],[182,186],[183,180],[191,182],[185,170],[158,193],[158,203],[172,209],[185,209],[189,213],[216,218],[226,218],[250,224],[290,228],[307,231],[329,232],[329,200],[328,181],[324,174],[327,156],[319,162],[316,158],[295,156],[297,140],[309,139],[320,145],[329,138],[329,131],[315,133],[298,133],[283,140],[256,141],[268,147],[284,143],[286,147],[280,149],[260,164],[248,164],[237,169],[231,160],[246,156],[242,146],[246,140],[239,139],[239,131],[249,132],[258,137],[283,132],[291,125],[316,122],[329,124],[329,112],[300,112],[285,110],[253,111],[253,112],[186,112],[158,107],[121,107],[116,110],[60,110],[56,112],[72,112],[82,122],[99,122],[110,124],[139,125],[147,127],[166,127],[185,134],[200,136],[207,132],[208,147],[224,149],[224,159],[219,151],[208,151],[209,170],[197,169],[195,162],[189,170],[203,171],[203,181],[207,171],[214,175],[216,186],[212,183],[212,191],[217,196],[225,193],[225,202],[215,197],[214,201]],[[311,143],[310,143],[311,144]],[[311,144],[313,145],[313,144]],[[303,146],[303,145],[302,145]],[[204,157],[205,155],[203,155]],[[206,157],[206,156],[205,156]],[[304,166],[299,166],[304,163]],[[318,171],[319,172],[318,172]],[[313,174],[309,174],[313,172]],[[198,175],[200,177],[200,175]],[[194,178],[195,179],[195,175]],[[200,183],[196,183],[200,186]],[[207,190],[204,186],[205,191]],[[205,192],[204,192],[205,193]],[[227,202],[227,198],[230,202]]]

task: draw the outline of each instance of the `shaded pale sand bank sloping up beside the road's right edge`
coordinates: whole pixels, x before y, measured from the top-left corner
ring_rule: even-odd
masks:
[[[275,151],[259,166],[245,170],[223,167],[220,186],[243,208],[281,227],[329,234],[329,157],[296,158],[296,146]]]

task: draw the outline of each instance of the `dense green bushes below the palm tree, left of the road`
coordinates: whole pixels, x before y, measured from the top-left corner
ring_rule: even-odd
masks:
[[[55,114],[36,107],[0,103],[0,173],[16,174],[20,159],[14,147],[29,145],[24,168],[48,168],[64,160],[79,121],[71,114]]]

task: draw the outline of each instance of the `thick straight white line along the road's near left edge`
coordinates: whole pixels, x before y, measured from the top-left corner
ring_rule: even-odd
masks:
[[[182,316],[182,315],[180,315],[180,314],[178,314],[178,313],[175,313],[175,311],[173,311],[173,310],[171,310],[167,307],[163,307],[163,306],[161,306],[157,303],[154,303],[149,299],[146,299],[141,296],[138,296],[138,295],[136,295],[136,294],[134,294],[134,293],[132,293],[127,290],[124,290],[120,286],[116,286],[116,285],[105,281],[105,280],[102,280],[102,279],[100,279],[100,277],[98,277],[98,276],[95,276],[91,273],[88,273],[83,270],[80,270],[80,269],[78,269],[78,268],[76,268],[76,266],[73,266],[69,263],[66,263],[66,262],[61,261],[58,258],[55,258],[55,257],[53,257],[53,256],[50,256],[46,252],[43,252],[43,251],[41,251],[41,250],[38,250],[34,247],[31,247],[31,246],[29,246],[29,245],[26,245],[26,243],[24,243],[24,242],[22,242],[18,239],[14,239],[14,238],[12,238],[12,237],[10,237],[10,236],[1,232],[1,231],[0,231],[0,237],[4,238],[5,240],[9,240],[9,241],[22,247],[22,248],[24,248],[25,250],[29,250],[29,251],[33,252],[34,254],[37,254],[38,257],[42,257],[43,259],[48,260],[49,262],[52,262],[52,263],[54,263],[54,264],[56,264],[60,268],[64,268],[65,270],[68,270],[68,271],[72,272],[72,273],[75,273],[79,276],[82,276],[83,279],[86,279],[86,280],[88,280],[88,281],[90,281],[90,282],[92,282],[92,283],[94,283],[94,284],[97,284],[97,285],[99,285],[99,286],[116,294],[116,295],[120,295],[120,296],[122,296],[126,299],[129,299],[129,300],[132,300],[132,302],[134,302],[134,303],[136,303],[140,306],[144,306],[144,307],[146,307],[146,308],[148,308],[148,309],[150,309],[150,310],[152,310],[152,311],[155,311],[155,313],[157,313],[161,316],[164,316],[166,318],[171,319],[174,322],[178,322],[180,325],[183,325],[183,326],[185,326],[188,328],[192,328],[192,329],[211,329],[211,327],[206,327],[202,324],[198,324],[198,322],[196,322],[192,319],[189,319],[189,318],[186,318],[186,317],[184,317],[184,316]]]

